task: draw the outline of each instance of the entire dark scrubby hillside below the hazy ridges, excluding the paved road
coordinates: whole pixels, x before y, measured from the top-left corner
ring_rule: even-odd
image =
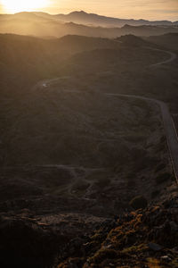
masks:
[[[177,58],[131,35],[0,43],[0,266],[175,268],[160,108],[108,94],[176,116]]]

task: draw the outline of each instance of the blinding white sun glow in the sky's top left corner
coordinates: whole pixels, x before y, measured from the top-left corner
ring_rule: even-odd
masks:
[[[6,13],[35,11],[49,4],[49,0],[1,0]]]

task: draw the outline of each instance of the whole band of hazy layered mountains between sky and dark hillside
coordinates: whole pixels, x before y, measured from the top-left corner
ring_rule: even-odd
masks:
[[[81,18],[81,20],[83,18],[83,21],[77,19],[78,15]],[[90,23],[92,25],[89,25],[86,18],[95,18],[93,19],[93,23]],[[96,26],[100,24],[100,21],[104,20],[112,21],[111,19],[112,18],[102,17],[95,14],[87,14],[84,12],[69,13],[68,15],[61,15],[61,14],[51,15],[48,13],[15,13],[10,15],[2,14],[0,15],[0,33],[29,35],[40,38],[61,38],[66,35],[79,35],[79,36],[99,37],[99,38],[117,38],[125,34],[133,34],[135,36],[149,37],[149,36],[163,35],[170,32],[171,33],[178,32],[178,26],[174,26],[174,23],[170,21],[168,21],[167,25],[164,26],[163,25],[134,26],[125,24],[124,26],[119,28],[118,26],[111,27],[111,23],[107,24],[105,27],[103,25],[102,27]],[[120,21],[119,19],[113,19],[113,20]],[[134,20],[129,21],[132,22]],[[142,23],[146,22],[142,21]],[[159,23],[161,24],[160,21]]]

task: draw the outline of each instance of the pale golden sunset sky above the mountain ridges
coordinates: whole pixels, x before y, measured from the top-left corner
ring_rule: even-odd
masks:
[[[0,13],[81,10],[125,19],[178,21],[178,0],[0,0]]]

